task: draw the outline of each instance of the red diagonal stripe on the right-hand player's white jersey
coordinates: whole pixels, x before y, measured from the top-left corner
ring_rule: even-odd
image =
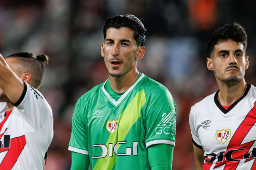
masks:
[[[242,143],[243,139],[246,137],[247,133],[251,130],[251,128],[253,128],[255,123],[256,123],[256,102],[254,102],[253,109],[251,109],[250,112],[247,114],[247,116],[244,118],[244,121],[242,121],[240,126],[237,128],[232,139],[228,144],[227,151],[233,150],[233,149],[245,149],[245,150],[233,152],[232,159],[241,160],[243,159],[244,154],[248,153],[249,149],[251,148],[255,140],[250,141],[248,143],[244,143],[242,145],[240,144]],[[225,153],[227,153],[227,151]],[[251,160],[251,159],[247,159],[246,161],[248,160]],[[223,170],[235,170],[239,162],[240,161],[227,161],[224,158],[223,162],[216,163],[214,168],[220,167],[221,165],[226,164]],[[251,167],[251,170],[254,170],[254,169],[256,169],[255,161],[253,163],[253,166]]]

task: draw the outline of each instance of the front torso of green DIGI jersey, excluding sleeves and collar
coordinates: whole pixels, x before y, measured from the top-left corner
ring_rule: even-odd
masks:
[[[120,101],[120,100],[119,100]],[[137,86],[117,105],[101,91],[86,108],[94,169],[149,169],[145,146],[145,92]]]

